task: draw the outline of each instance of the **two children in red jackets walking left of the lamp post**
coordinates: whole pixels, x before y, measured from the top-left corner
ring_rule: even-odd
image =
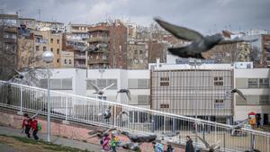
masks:
[[[38,140],[39,139],[39,137],[37,136],[37,133],[39,131],[38,121],[35,119],[35,117],[30,118],[27,113],[24,113],[23,116],[24,116],[22,124],[23,132],[30,139],[31,138],[30,131],[32,130],[32,137]]]

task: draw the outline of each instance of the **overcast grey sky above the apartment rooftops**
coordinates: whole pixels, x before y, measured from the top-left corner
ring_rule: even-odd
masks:
[[[95,23],[106,18],[148,25],[153,17],[202,33],[270,30],[270,0],[0,0],[3,13],[22,10],[23,17],[44,21]]]

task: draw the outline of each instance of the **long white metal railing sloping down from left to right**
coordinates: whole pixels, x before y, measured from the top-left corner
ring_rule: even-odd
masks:
[[[213,121],[202,121],[182,115],[153,111],[121,103],[103,101],[92,97],[79,96],[51,91],[51,117],[66,121],[84,122],[91,125],[121,130],[136,131],[145,134],[180,132],[173,138],[164,138],[166,142],[183,144],[185,137],[192,137],[194,145],[204,148],[195,134],[209,143],[220,141],[221,151],[245,151],[251,148],[261,152],[270,151],[270,133],[258,130],[237,130],[238,136],[231,135],[231,127]],[[21,112],[38,112],[47,114],[47,90],[39,87],[20,85],[0,81],[0,106]],[[104,120],[98,113],[112,107],[112,117]],[[127,115],[119,115],[125,111]],[[195,127],[197,126],[197,127]],[[197,133],[194,129],[197,128]],[[198,141],[198,142],[196,142]]]

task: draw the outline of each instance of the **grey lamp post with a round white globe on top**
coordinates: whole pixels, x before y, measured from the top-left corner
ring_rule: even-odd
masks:
[[[50,96],[49,96],[49,63],[53,61],[54,55],[51,51],[46,50],[42,55],[43,61],[47,63],[47,74],[48,74],[48,96],[47,96],[47,110],[48,110],[48,116],[47,116],[47,141],[50,142]]]

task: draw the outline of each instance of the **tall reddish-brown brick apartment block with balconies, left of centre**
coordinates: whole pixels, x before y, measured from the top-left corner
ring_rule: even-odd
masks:
[[[127,68],[127,28],[122,22],[100,22],[89,26],[88,32],[89,46],[107,46],[88,53],[88,67]]]

